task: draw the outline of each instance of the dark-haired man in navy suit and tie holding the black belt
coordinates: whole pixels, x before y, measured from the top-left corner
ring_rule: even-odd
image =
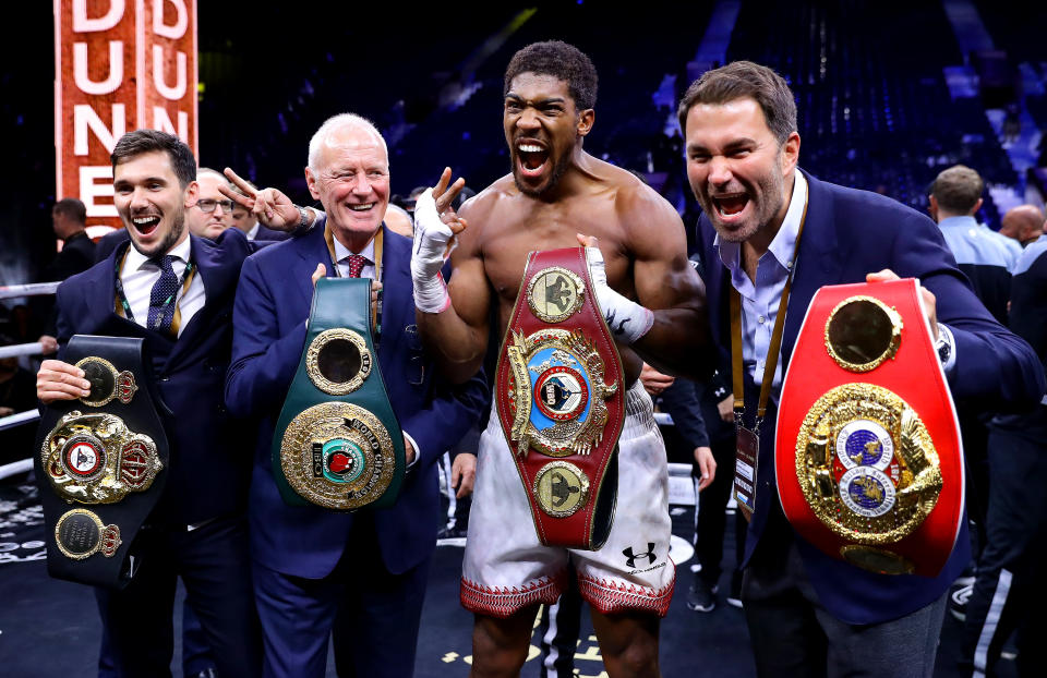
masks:
[[[58,339],[141,337],[163,413],[171,464],[164,495],[139,533],[141,565],[122,591],[98,590],[120,675],[168,676],[176,578],[200,618],[221,676],[256,676],[261,638],[249,571],[242,435],[221,400],[240,266],[252,246],[230,229],[191,237],[196,162],[178,137],[124,135],[112,152],[115,204],[130,235],[107,259],[58,289]],[[119,283],[119,284],[118,284]],[[115,311],[116,310],[116,311]],[[81,370],[45,361],[44,403],[86,395]]]

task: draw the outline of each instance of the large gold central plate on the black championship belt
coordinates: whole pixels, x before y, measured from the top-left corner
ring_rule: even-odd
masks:
[[[59,497],[77,504],[113,504],[145,492],[164,468],[156,444],[104,412],[62,416],[44,438],[41,462]]]

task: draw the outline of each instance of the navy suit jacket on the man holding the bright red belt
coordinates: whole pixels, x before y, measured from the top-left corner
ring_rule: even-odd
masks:
[[[1036,354],[985,310],[956,268],[934,221],[881,195],[819,181],[806,172],[804,175],[809,189],[807,220],[785,315],[783,374],[804,315],[820,287],[864,282],[866,274],[890,268],[902,278],[919,278],[935,294],[938,320],[952,329],[956,364],[949,385],[954,400],[976,407],[992,403],[994,409],[1000,409],[1031,405],[1039,399],[1045,382]],[[714,237],[712,225],[702,215],[698,238],[707,273],[711,329],[720,347],[721,364],[730,365],[731,275],[713,246]],[[746,402],[756,402],[758,389],[748,377],[746,385],[746,390],[753,391],[751,397],[747,392]],[[757,507],[746,537],[746,561],[761,538],[770,537],[775,530],[787,530],[797,540],[819,600],[850,623],[894,619],[940,597],[970,559],[966,520],[962,521],[952,556],[936,579],[867,572],[823,555],[785,526],[774,480],[775,404],[769,403],[760,428]],[[747,424],[751,426],[751,421]],[[772,512],[778,516],[771,517]]]

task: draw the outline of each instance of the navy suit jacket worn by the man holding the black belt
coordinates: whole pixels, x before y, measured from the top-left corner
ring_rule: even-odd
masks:
[[[116,263],[127,245],[58,288],[62,351],[73,335],[145,338],[160,397],[171,411],[157,407],[170,443],[171,468],[154,521],[192,524],[242,511],[246,505],[250,452],[238,445],[221,392],[240,265],[253,247],[243,233],[232,231],[216,241],[190,235],[190,256],[198,267],[206,303],[176,341],[116,314]]]

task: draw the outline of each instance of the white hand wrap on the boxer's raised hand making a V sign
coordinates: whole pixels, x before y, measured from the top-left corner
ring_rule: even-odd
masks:
[[[411,281],[414,305],[423,313],[440,313],[450,305],[447,284],[440,269],[458,244],[450,227],[436,213],[433,190],[418,196],[414,203],[414,247],[411,252]]]

